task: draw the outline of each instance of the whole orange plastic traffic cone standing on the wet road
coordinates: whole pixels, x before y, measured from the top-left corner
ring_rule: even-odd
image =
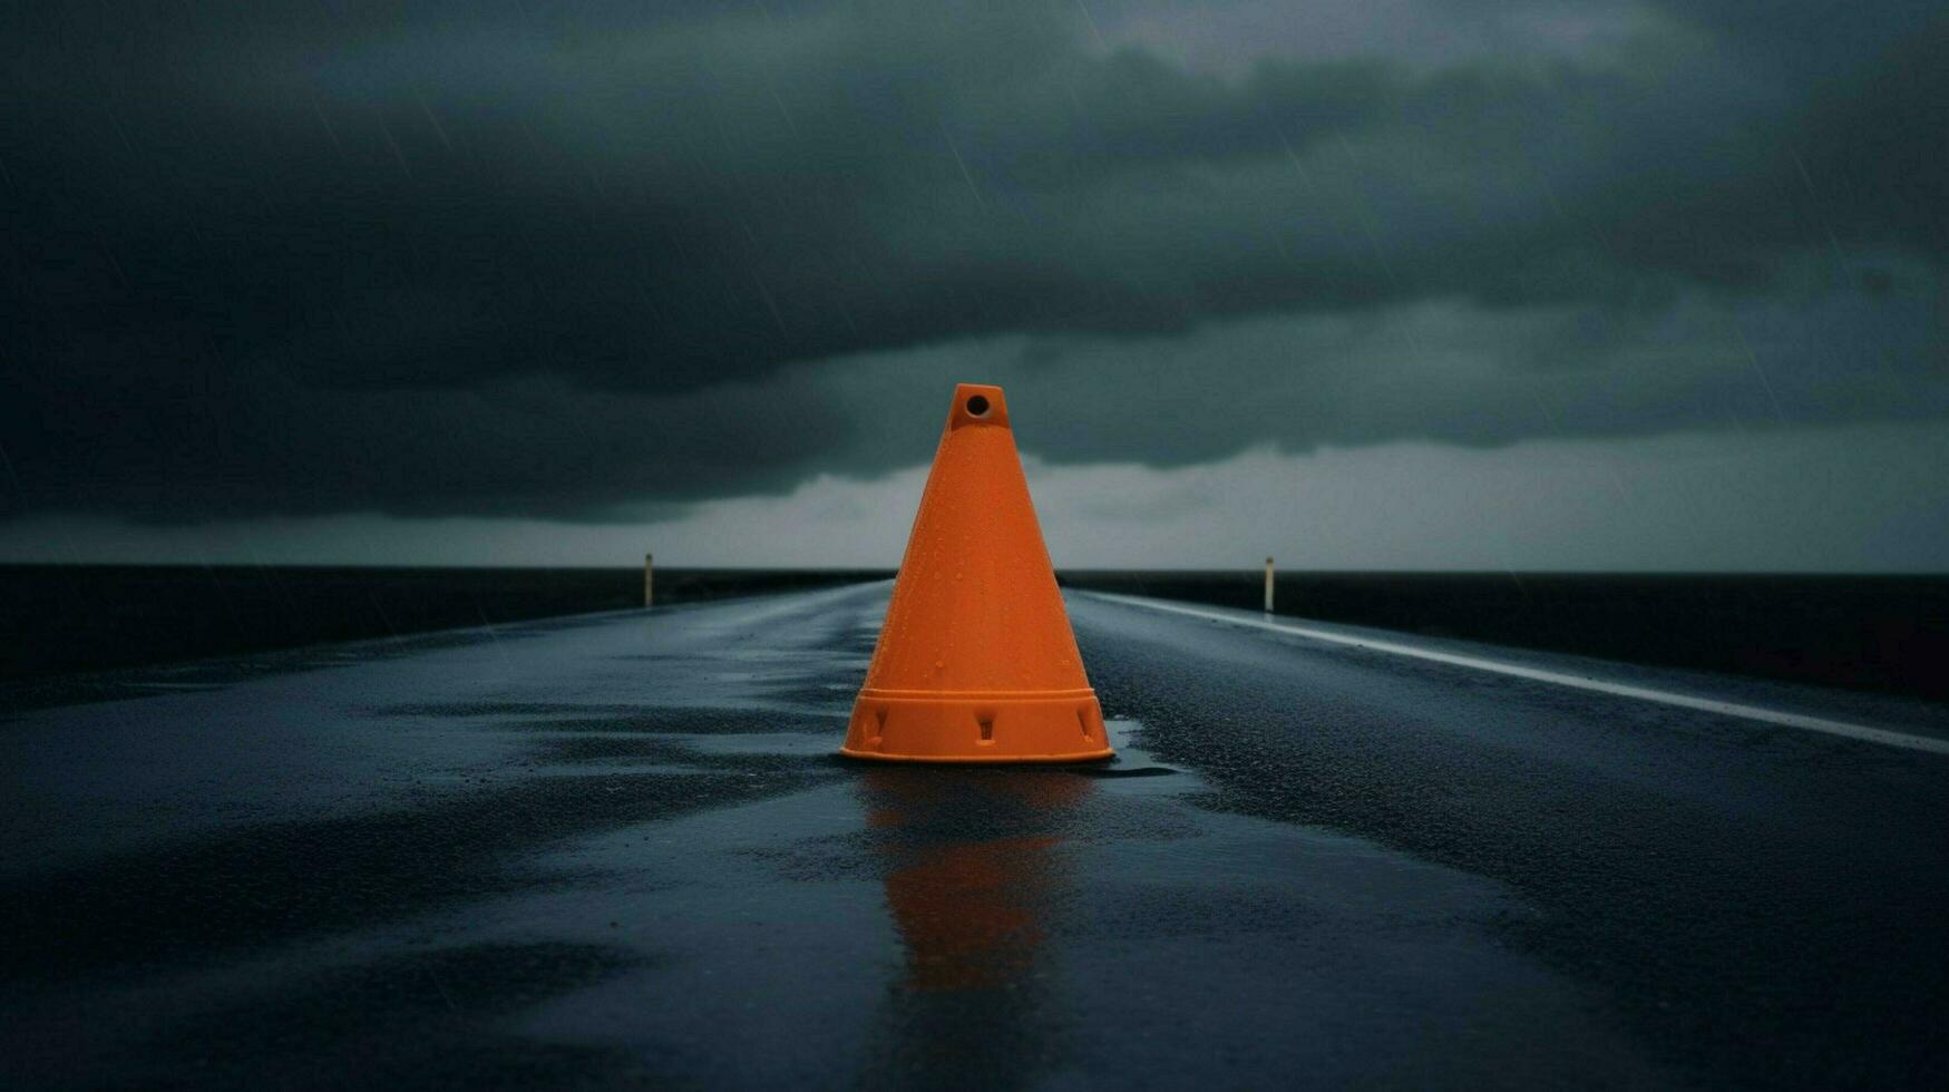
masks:
[[[840,755],[1113,755],[1021,476],[1000,386],[961,384]]]

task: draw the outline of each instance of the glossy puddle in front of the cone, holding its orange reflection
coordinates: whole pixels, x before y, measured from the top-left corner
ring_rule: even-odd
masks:
[[[1101,766],[840,760],[840,727],[686,741],[700,762],[834,778],[563,852],[606,887],[522,916],[573,940],[581,915],[661,961],[557,998],[528,1034],[678,1057],[766,1041],[682,1071],[733,1084],[1454,1086],[1571,1082],[1592,1059],[1618,1084],[1657,1076],[1573,983],[1499,942],[1528,911],[1495,883],[1203,807],[1208,784],[1156,762],[1140,723],[1107,727]]]

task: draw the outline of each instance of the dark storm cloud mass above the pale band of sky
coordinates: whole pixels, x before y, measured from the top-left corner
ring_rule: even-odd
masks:
[[[1119,37],[1158,12],[12,4],[14,511],[594,515],[780,489],[916,458],[861,406],[906,372],[936,398],[934,357],[897,351],[1027,337],[1052,388],[1115,413],[1138,406],[1105,345],[1144,345],[1125,386],[1156,388],[1160,339],[1423,304],[1462,312],[1386,349],[1429,370],[1368,384],[1384,411],[1212,406],[1049,450],[1501,443],[1540,425],[1495,406],[1495,376],[1446,400],[1481,402],[1466,413],[1429,400],[1460,382],[1446,339],[1499,314],[1479,355],[1612,369],[1606,408],[1557,425],[1670,427],[1698,384],[1645,363],[1659,316],[1809,285],[1853,308],[1818,326],[1834,341],[1805,369],[1842,378],[1809,386],[1809,421],[1937,411],[1846,396],[1941,359],[1949,20],[1930,6],[1395,4],[1374,18],[1629,31],[1452,57],[1220,41],[1236,70]],[[1308,330],[1292,347],[1333,339]],[[1068,343],[1095,363],[1064,372],[1047,347]],[[1304,363],[1179,367],[1249,396]]]

